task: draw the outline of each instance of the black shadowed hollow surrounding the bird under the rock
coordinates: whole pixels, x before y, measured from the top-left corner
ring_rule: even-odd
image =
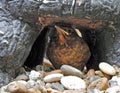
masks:
[[[55,23],[56,25],[59,26],[71,26],[69,23],[61,23],[57,22]],[[54,25],[55,25],[54,24]],[[47,33],[50,31],[51,26],[47,26],[43,29],[43,31],[40,33],[36,41],[34,42],[31,52],[26,59],[24,65],[33,68],[36,65],[42,64],[43,57],[44,57],[44,52],[45,52],[45,46],[46,46],[46,37]],[[88,69],[94,68],[98,69],[98,64],[99,64],[99,59],[98,59],[98,53],[99,51],[97,50],[97,45],[96,45],[96,30],[91,29],[91,28],[85,28],[80,25],[76,25],[76,28],[78,28],[83,36],[83,39],[86,41],[88,44],[90,51],[91,51],[91,57],[89,61],[87,62],[86,66]],[[54,29],[53,29],[54,30]],[[52,31],[51,31],[52,32]],[[53,34],[53,32],[51,33]],[[51,35],[49,34],[49,35]],[[54,33],[56,34],[56,33]]]

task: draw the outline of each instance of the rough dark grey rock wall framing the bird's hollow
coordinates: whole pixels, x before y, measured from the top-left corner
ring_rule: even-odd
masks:
[[[24,64],[39,35],[35,26],[38,17],[105,23],[95,27],[98,59],[120,66],[119,15],[119,0],[0,0],[0,84],[8,83]]]

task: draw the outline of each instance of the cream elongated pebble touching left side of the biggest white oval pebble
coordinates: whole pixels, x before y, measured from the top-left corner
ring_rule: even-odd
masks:
[[[44,77],[44,81],[45,82],[60,81],[62,77],[63,77],[63,74],[50,74]]]

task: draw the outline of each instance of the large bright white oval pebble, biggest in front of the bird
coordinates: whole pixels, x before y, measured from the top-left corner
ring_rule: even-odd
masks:
[[[77,76],[64,76],[61,78],[61,84],[67,89],[85,89],[86,83]]]

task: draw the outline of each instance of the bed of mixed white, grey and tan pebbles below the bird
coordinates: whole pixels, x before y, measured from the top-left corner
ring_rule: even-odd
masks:
[[[120,68],[105,62],[99,69],[80,71],[69,65],[54,69],[48,60],[33,69],[21,68],[20,74],[0,93],[120,93]]]

